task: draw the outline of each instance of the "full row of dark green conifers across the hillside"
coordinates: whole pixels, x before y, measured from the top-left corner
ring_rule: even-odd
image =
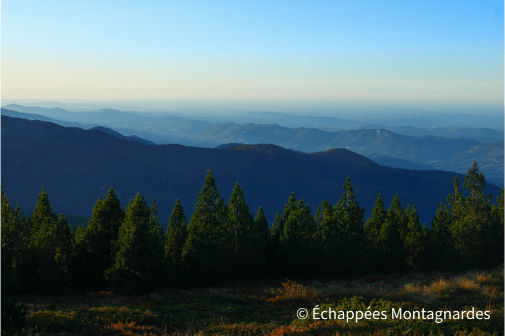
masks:
[[[484,186],[474,162],[463,183],[469,196],[456,177],[428,229],[397,194],[388,209],[379,194],[365,221],[347,178],[337,204],[324,200],[313,214],[293,193],[269,227],[261,206],[256,217],[250,212],[238,182],[226,204],[209,171],[189,225],[179,200],[164,232],[154,199],[148,206],[137,194],[122,209],[111,187],[75,234],[44,188],[28,217],[2,190],[2,324],[16,290],[139,294],[262,278],[489,269],[503,263],[505,188],[491,205]]]

